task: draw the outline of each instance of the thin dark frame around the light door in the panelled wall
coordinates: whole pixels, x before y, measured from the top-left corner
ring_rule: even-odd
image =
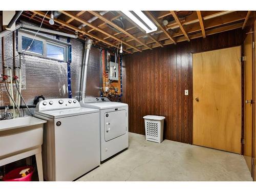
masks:
[[[256,23],[256,22],[255,22]],[[190,62],[191,62],[191,103],[193,103],[193,54],[195,53],[202,53],[206,51],[215,51],[215,50],[220,50],[220,49],[226,49],[226,48],[232,48],[232,47],[238,47],[241,46],[241,57],[243,56],[243,45],[233,45],[233,46],[223,46],[221,48],[214,48],[214,49],[207,49],[207,50],[202,50],[202,51],[191,51],[190,52]],[[241,61],[241,139],[244,138],[244,62]],[[191,129],[191,144],[193,144],[193,114],[194,114],[194,109],[193,109],[193,104],[191,105],[191,123],[192,123],[192,129]],[[256,118],[256,117],[255,117]],[[256,137],[256,136],[255,136]],[[243,155],[243,144],[241,140],[241,155]],[[230,152],[232,153],[232,152]]]

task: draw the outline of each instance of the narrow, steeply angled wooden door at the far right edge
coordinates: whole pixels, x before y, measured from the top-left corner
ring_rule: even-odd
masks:
[[[252,34],[244,40],[244,158],[252,173]]]

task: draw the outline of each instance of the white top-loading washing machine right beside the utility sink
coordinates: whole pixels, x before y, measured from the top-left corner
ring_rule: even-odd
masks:
[[[42,157],[47,181],[73,181],[100,165],[99,110],[75,99],[48,99],[36,105],[44,125]]]

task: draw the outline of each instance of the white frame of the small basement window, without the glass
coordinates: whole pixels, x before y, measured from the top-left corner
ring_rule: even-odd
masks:
[[[22,29],[18,30],[18,34],[17,34],[17,44],[18,44],[17,51],[18,51],[18,53],[22,53],[24,51],[22,49],[22,37],[24,36],[24,37],[33,39],[34,35],[35,35],[35,33],[33,33],[33,32],[29,32],[29,31],[22,30]],[[42,57],[45,59],[56,60],[56,61],[61,61],[61,62],[69,61],[69,50],[70,50],[69,46],[71,46],[71,44],[68,44],[66,42],[63,42],[63,41],[60,41],[57,39],[52,39],[49,37],[41,36],[38,34],[36,35],[35,40],[42,42],[42,52],[43,53],[39,54],[39,53],[31,52],[28,50],[28,51],[24,52],[23,54],[38,56],[38,57]],[[47,57],[47,44],[64,48],[63,60],[52,58],[52,57]]]

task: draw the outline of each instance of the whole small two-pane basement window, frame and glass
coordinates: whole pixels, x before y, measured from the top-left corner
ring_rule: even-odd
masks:
[[[30,46],[34,38],[34,33],[18,31],[18,53],[23,53]],[[36,35],[30,49],[24,54],[35,55],[58,61],[67,62],[69,60],[70,44],[51,39],[45,36]]]

